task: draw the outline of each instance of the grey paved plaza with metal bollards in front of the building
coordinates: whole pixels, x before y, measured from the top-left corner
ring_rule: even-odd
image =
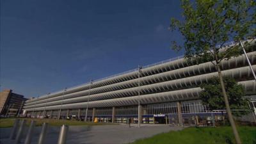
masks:
[[[26,131],[24,130],[24,136],[21,143],[24,143]],[[38,143],[38,137],[41,127],[35,127],[32,142]],[[136,124],[132,124],[131,127],[126,124],[122,125],[94,125],[94,126],[70,126],[67,137],[67,144],[102,144],[102,143],[131,143],[132,141],[148,138],[159,134],[161,132],[179,131],[182,127],[173,127],[170,125],[141,125],[140,128]],[[1,144],[14,143],[14,141],[8,140],[10,136],[11,128],[0,129]],[[45,144],[56,144],[58,141],[58,134],[60,127],[49,127],[47,131],[47,138]]]

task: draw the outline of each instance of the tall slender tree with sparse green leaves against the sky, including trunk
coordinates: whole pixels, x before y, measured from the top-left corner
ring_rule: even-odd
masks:
[[[226,49],[221,47],[232,40],[244,40],[256,35],[255,3],[254,0],[195,0],[195,3],[182,0],[184,19],[172,18],[170,24],[172,31],[177,29],[184,36],[183,47],[186,51],[186,60],[200,58],[211,61],[216,67],[228,120],[236,143],[241,143],[241,140],[230,111],[220,62],[239,55],[239,46],[231,45]],[[182,49],[177,42],[172,44],[176,51]]]

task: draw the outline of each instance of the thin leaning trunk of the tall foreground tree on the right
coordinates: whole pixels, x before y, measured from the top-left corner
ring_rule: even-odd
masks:
[[[241,144],[241,140],[239,138],[239,134],[238,134],[237,129],[236,129],[236,124],[234,122],[234,118],[233,118],[231,110],[230,110],[228,97],[227,97],[227,93],[226,93],[224,82],[223,82],[223,77],[221,75],[220,65],[217,64],[216,67],[217,67],[217,70],[218,70],[218,76],[219,76],[219,79],[220,79],[221,90],[222,90],[222,93],[223,93],[223,97],[224,97],[224,101],[225,101],[225,105],[226,105],[226,109],[227,109],[228,120],[229,120],[230,125],[232,127],[232,130],[233,130],[233,133],[234,133],[234,136],[235,136],[235,139],[236,139],[236,143]]]

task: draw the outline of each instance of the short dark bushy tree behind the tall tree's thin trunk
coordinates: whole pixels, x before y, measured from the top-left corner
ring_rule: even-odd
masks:
[[[248,100],[243,97],[243,86],[238,84],[232,77],[223,77],[223,82],[228,102],[230,102],[230,109],[250,109],[248,107]],[[208,83],[204,83],[200,87],[203,90],[200,93],[200,99],[203,104],[207,105],[211,110],[225,109],[225,102],[221,95],[220,79],[218,77],[212,77]],[[248,111],[232,111],[232,113],[236,116],[241,116],[248,113]]]

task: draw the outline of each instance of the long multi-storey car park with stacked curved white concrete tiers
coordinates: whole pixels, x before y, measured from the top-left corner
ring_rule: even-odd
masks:
[[[247,54],[255,72],[255,40],[252,44]],[[244,86],[247,97],[255,99],[256,82],[244,54],[221,61],[221,70],[223,76],[234,77]],[[218,73],[211,61],[188,63],[180,57],[29,99],[24,109],[29,117],[191,124],[212,115],[198,96],[200,84],[213,76]]]

